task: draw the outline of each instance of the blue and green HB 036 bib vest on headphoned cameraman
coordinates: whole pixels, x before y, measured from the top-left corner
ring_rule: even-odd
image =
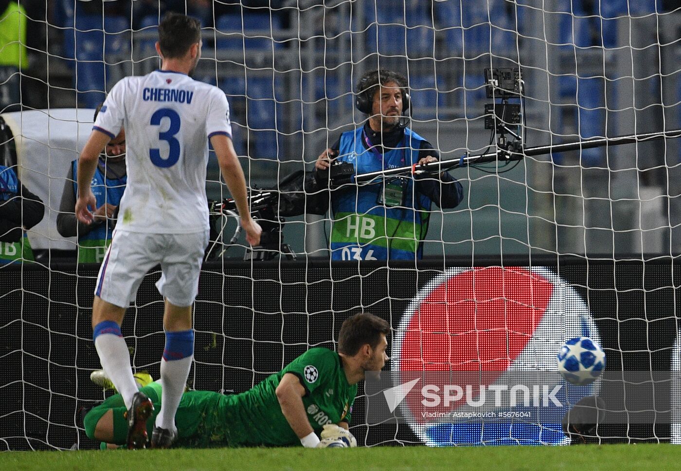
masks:
[[[355,166],[355,174],[377,172],[416,164],[424,140],[405,129],[396,149],[379,154],[363,145],[364,128],[340,136],[338,160]],[[378,179],[371,185],[352,185],[332,194],[332,260],[414,260],[422,257],[420,244],[424,234],[423,210],[430,209],[430,198],[415,192],[409,177],[403,189],[402,204],[385,207],[379,204],[385,183]],[[427,217],[427,215],[425,215]]]

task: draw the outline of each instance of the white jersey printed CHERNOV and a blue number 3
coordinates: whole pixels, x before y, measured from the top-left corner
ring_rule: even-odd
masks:
[[[208,139],[232,138],[229,104],[219,88],[180,72],[157,70],[120,80],[95,130],[125,129],[127,186],[118,228],[189,234],[208,229]]]

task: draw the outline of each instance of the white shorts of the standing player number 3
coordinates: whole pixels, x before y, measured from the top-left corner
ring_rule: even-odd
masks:
[[[199,274],[208,231],[193,234],[147,234],[114,230],[99,268],[95,295],[119,307],[135,301],[144,275],[161,264],[156,287],[176,306],[190,306],[199,290]]]

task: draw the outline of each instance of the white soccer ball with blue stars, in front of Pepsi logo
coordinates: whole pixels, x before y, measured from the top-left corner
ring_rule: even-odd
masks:
[[[560,374],[577,386],[591,384],[605,369],[605,352],[589,337],[569,339],[558,350],[556,358]]]

